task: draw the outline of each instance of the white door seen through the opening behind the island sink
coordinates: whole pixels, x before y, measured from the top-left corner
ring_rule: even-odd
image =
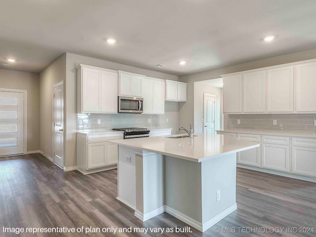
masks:
[[[215,133],[215,96],[204,93],[203,133]]]

